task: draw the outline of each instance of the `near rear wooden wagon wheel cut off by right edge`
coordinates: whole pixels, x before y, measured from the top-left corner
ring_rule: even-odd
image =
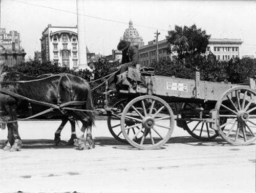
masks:
[[[233,145],[247,145],[256,139],[256,92],[237,87],[226,91],[217,102],[219,118],[227,122],[217,123],[219,134]],[[224,130],[222,128],[225,126]]]

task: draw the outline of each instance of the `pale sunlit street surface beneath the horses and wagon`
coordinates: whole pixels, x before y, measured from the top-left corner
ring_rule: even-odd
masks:
[[[69,124],[54,145],[59,124],[19,122],[22,151],[0,149],[0,192],[255,192],[255,145],[201,142],[176,126],[163,148],[138,150],[96,121],[95,149],[78,151],[65,146]],[[6,139],[1,130],[1,146]]]

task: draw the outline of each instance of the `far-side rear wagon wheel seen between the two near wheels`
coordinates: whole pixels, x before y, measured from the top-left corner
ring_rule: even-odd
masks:
[[[183,103],[182,105],[182,110],[192,110],[195,108],[196,106],[193,103]],[[221,118],[220,120],[221,123],[226,122],[225,118]],[[209,141],[219,136],[218,132],[210,127],[210,123],[200,120],[187,120],[184,122],[183,128],[192,137],[201,141]]]

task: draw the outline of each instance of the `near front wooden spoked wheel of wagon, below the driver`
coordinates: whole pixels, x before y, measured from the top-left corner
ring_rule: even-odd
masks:
[[[125,121],[133,124],[125,127]],[[156,96],[139,96],[124,108],[121,128],[125,139],[139,149],[155,149],[166,143],[174,130],[174,114],[167,102]],[[129,129],[137,130],[129,133]],[[136,140],[136,137],[140,137]]]

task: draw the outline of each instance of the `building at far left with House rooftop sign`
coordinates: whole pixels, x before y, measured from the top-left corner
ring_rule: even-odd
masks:
[[[17,31],[6,33],[5,28],[0,29],[0,55],[1,61],[9,67],[25,61],[26,52],[20,47],[20,37]]]

